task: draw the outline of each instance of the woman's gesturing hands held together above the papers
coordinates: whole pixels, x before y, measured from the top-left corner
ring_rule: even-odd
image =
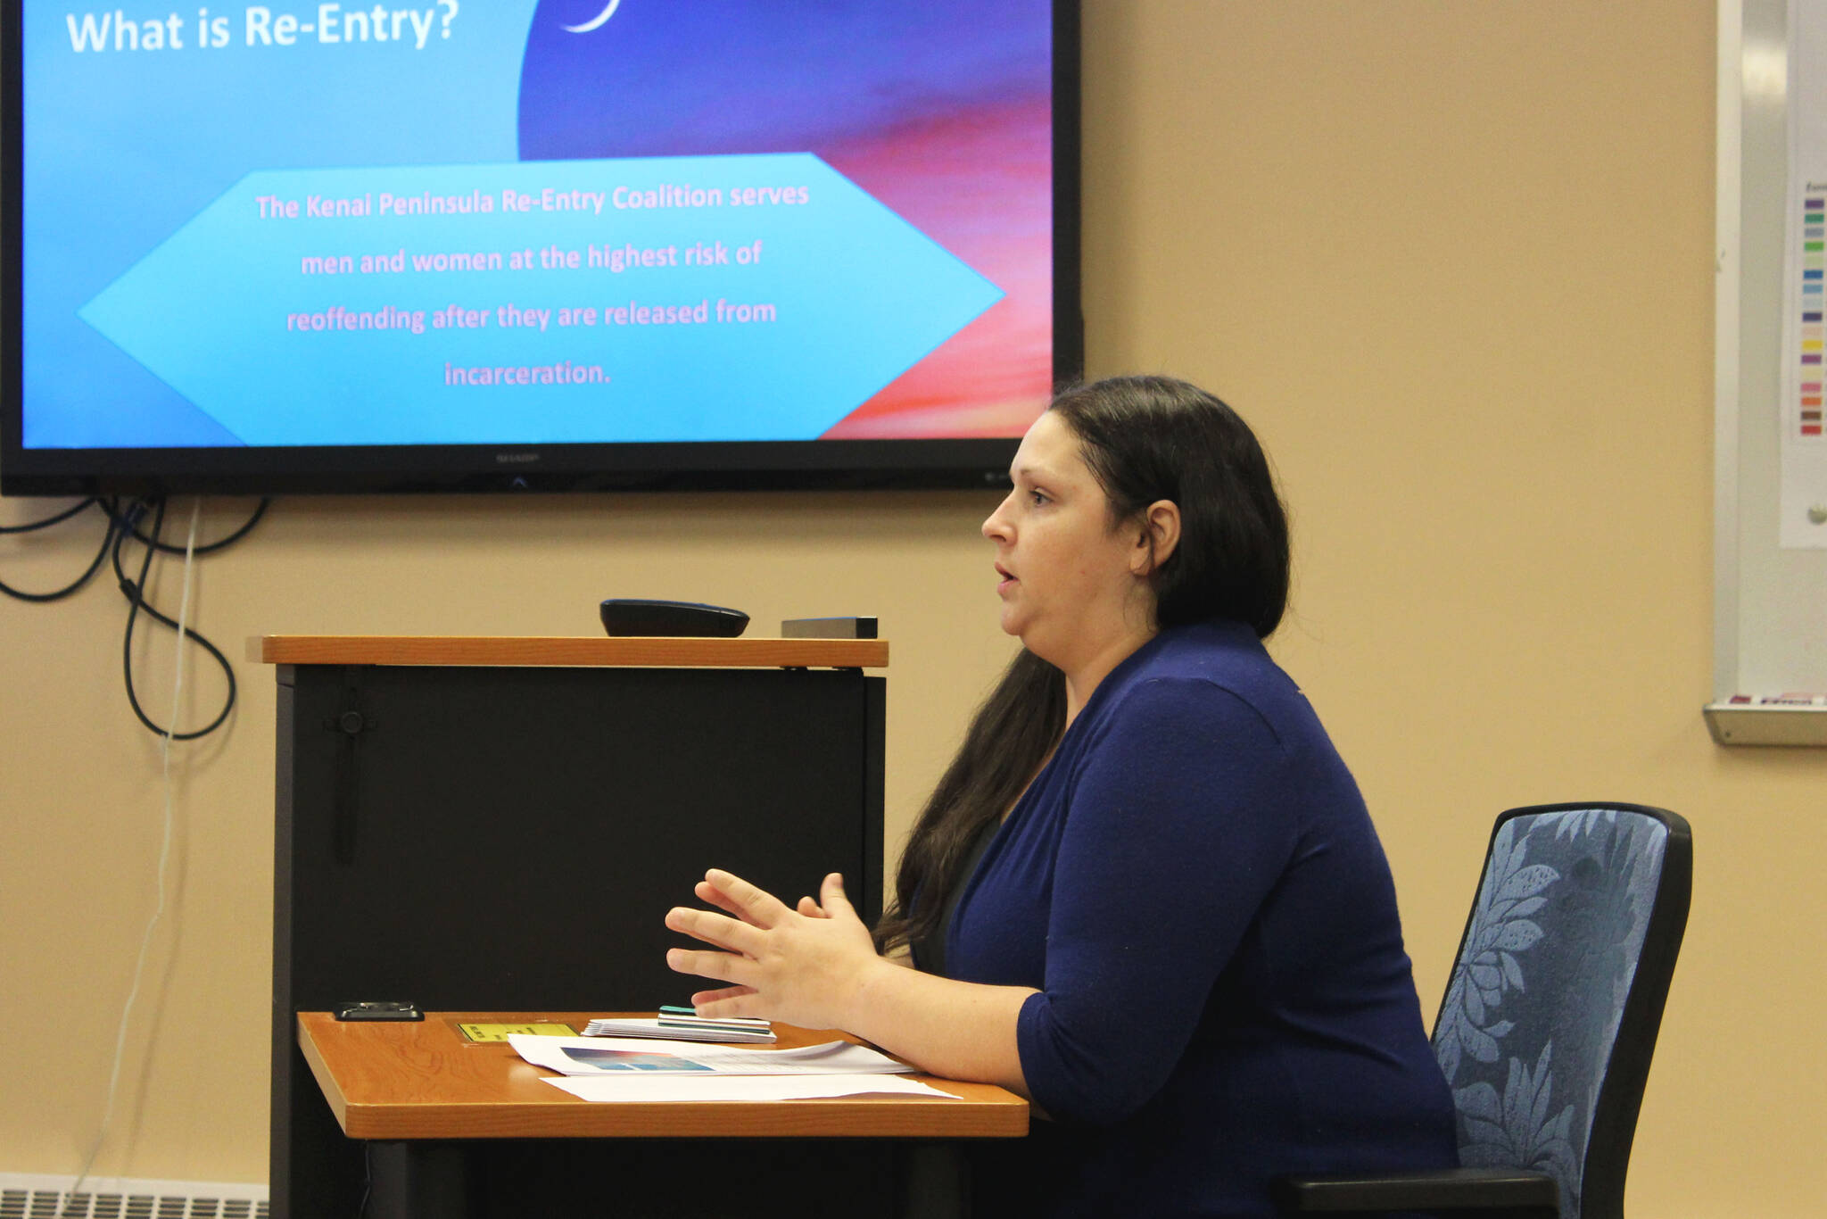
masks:
[[[671,949],[667,965],[681,974],[733,983],[692,994],[702,1016],[764,1016],[811,1029],[842,1029],[859,987],[881,965],[870,928],[844,897],[844,877],[824,877],[818,901],[798,908],[729,872],[711,870],[696,885],[707,905],[674,906],[667,927],[722,949]],[[890,969],[893,969],[890,965]]]

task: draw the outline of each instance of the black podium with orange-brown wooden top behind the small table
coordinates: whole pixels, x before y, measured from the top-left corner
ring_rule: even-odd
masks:
[[[882,899],[881,640],[267,636],[276,665],[274,1219],[351,1215],[362,1150],[296,1045],[356,1000],[681,1002],[707,866]]]

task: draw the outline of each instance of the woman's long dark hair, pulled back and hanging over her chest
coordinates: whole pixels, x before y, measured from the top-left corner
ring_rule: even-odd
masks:
[[[1078,386],[1049,409],[1078,437],[1111,501],[1111,528],[1160,499],[1180,508],[1180,543],[1151,576],[1156,625],[1230,618],[1266,640],[1288,605],[1288,515],[1250,426],[1171,376]],[[1009,811],[1063,731],[1065,674],[1021,649],[914,822],[877,947],[932,936],[970,846]]]

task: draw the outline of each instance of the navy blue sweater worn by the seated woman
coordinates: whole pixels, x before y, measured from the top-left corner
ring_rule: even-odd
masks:
[[[1054,1122],[977,1151],[987,1206],[1272,1215],[1281,1173],[1456,1162],[1363,797],[1244,625],[1164,631],[1098,685],[945,952],[1041,991],[1018,1044]]]

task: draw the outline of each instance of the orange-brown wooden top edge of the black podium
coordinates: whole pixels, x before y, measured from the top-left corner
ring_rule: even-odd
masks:
[[[263,665],[886,669],[888,640],[265,634],[247,641],[247,660]]]

